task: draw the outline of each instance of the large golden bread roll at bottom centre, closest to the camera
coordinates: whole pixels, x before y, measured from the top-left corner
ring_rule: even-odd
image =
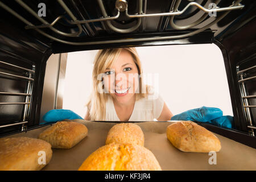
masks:
[[[98,148],[79,171],[160,171],[154,154],[137,144],[110,143]]]

